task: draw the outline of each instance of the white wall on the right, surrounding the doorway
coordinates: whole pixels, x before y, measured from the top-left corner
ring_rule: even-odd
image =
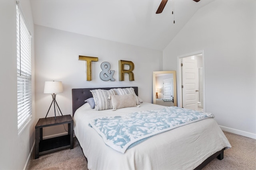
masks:
[[[198,10],[163,51],[163,69],[178,70],[178,56],[204,50],[206,111],[226,130],[254,138],[255,30],[255,0],[215,0]]]

